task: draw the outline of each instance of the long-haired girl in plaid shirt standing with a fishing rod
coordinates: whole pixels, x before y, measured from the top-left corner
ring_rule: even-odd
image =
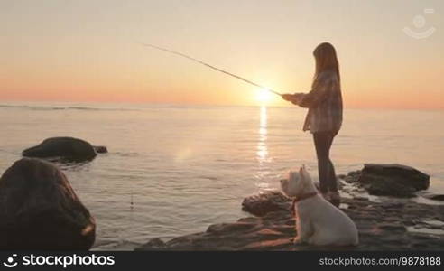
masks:
[[[342,124],[342,95],[339,64],[335,48],[324,42],[313,51],[316,71],[307,94],[283,94],[282,98],[309,108],[303,130],[313,134],[318,157],[319,190],[324,198],[338,206],[340,196],[335,167],[329,158],[330,147]]]

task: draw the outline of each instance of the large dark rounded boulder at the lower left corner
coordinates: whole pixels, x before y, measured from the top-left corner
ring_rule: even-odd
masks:
[[[0,179],[0,249],[84,250],[96,223],[54,165],[23,158]]]

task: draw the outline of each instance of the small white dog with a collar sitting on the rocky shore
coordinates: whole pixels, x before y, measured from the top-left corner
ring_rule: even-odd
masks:
[[[324,200],[302,166],[281,180],[282,192],[294,198],[296,230],[295,244],[307,242],[315,246],[356,246],[355,223],[342,211]]]

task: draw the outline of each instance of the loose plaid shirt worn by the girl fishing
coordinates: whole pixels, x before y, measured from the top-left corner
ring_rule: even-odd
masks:
[[[312,90],[298,103],[309,108],[303,130],[310,133],[338,132],[342,125],[342,94],[335,72],[321,72],[314,80]]]

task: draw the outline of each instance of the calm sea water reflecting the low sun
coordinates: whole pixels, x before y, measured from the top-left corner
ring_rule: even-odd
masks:
[[[107,145],[91,163],[61,167],[96,217],[97,248],[133,248],[244,216],[244,197],[277,188],[289,168],[306,164],[316,176],[304,116],[298,107],[4,103],[0,172],[47,137]],[[443,119],[443,111],[347,110],[332,149],[337,172],[408,164],[444,192]]]

